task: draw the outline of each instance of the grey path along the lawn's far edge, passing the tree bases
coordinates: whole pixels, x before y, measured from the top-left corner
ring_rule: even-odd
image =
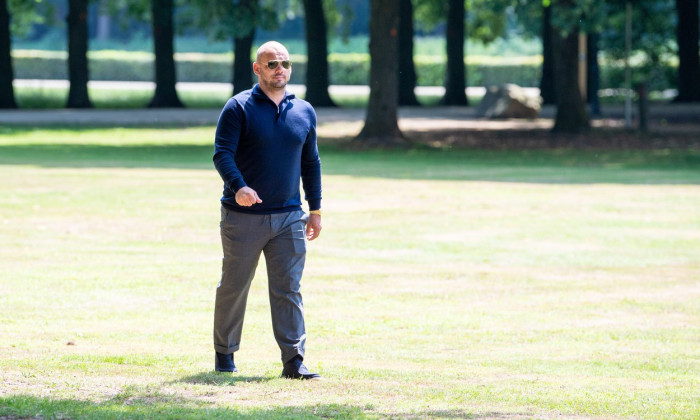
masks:
[[[86,126],[207,126],[215,125],[219,109],[56,109],[2,110],[0,127],[10,125]],[[489,120],[478,118],[475,107],[407,107],[399,110],[399,126],[414,132],[427,131],[522,131],[547,130],[553,126],[556,110],[545,106],[533,120]],[[624,128],[624,109],[606,106],[603,115],[592,120],[594,127]],[[365,118],[364,109],[319,108],[319,132],[328,137],[352,136],[359,132]],[[636,124],[636,122],[634,123]],[[332,129],[330,126],[333,126]],[[700,104],[665,104],[652,106],[649,128],[668,133],[695,132],[700,136]]]

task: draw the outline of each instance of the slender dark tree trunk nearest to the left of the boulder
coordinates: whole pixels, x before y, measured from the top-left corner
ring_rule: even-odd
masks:
[[[443,105],[468,105],[464,66],[464,0],[449,0],[447,5],[447,69]]]

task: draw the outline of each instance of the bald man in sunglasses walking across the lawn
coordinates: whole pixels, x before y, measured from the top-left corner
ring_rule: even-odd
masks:
[[[214,310],[215,369],[238,371],[233,353],[239,349],[248,290],[262,252],[282,376],[316,379],[320,375],[302,363],[306,331],[299,293],[306,239],[321,233],[316,113],[285,89],[292,65],[282,44],[263,44],[253,71],[258,84],[226,103],[216,128],[214,165],[224,181],[224,259]],[[301,210],[300,179],[309,216]]]

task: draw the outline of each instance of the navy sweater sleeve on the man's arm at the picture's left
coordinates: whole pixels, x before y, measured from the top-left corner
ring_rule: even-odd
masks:
[[[242,118],[240,105],[235,99],[230,99],[221,111],[216,126],[214,166],[226,187],[234,193],[246,186],[235,160],[238,142],[241,138]]]

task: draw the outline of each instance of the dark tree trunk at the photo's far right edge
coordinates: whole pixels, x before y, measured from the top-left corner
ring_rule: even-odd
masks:
[[[678,96],[675,102],[700,102],[698,0],[676,0],[678,26]]]

